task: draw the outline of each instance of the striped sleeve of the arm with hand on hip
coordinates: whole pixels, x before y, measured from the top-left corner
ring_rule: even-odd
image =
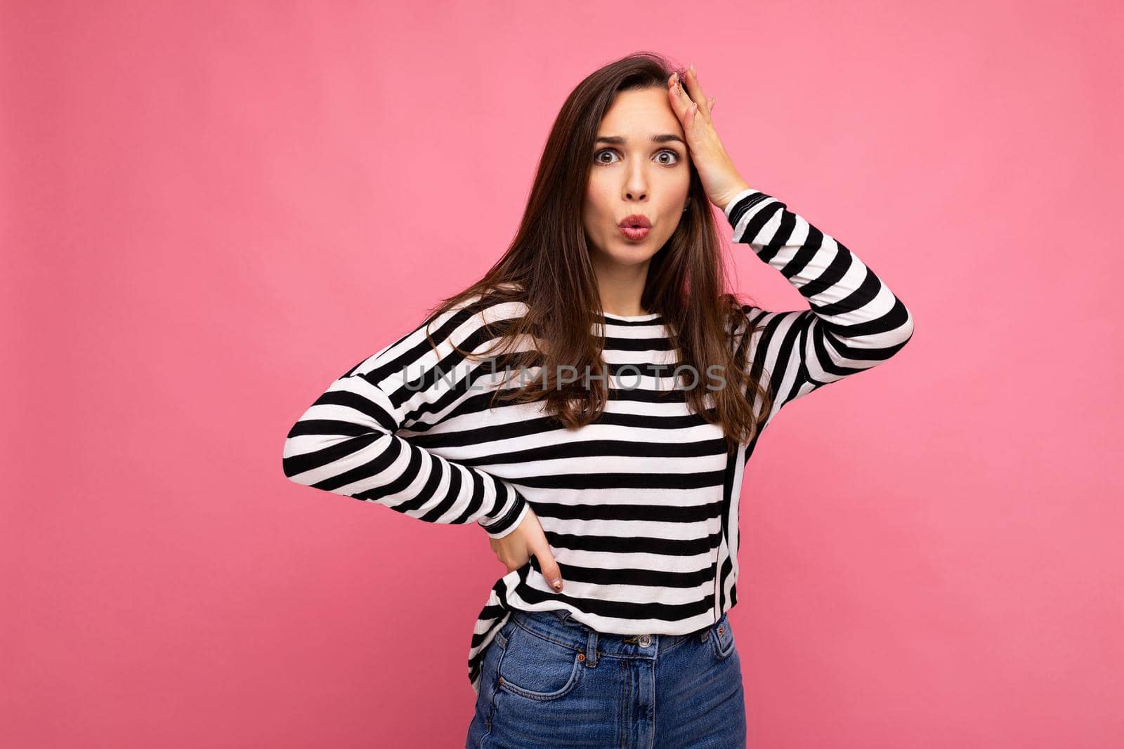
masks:
[[[477,522],[502,538],[529,506],[518,490],[399,435],[447,418],[450,403],[463,398],[479,371],[464,364],[452,341],[469,350],[481,342],[480,316],[456,310],[438,322],[432,330],[436,351],[423,323],[332,382],[287,435],[284,474],[426,522]]]

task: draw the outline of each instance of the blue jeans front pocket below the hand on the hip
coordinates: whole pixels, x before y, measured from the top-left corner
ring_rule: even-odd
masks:
[[[499,688],[528,700],[558,700],[584,670],[582,651],[516,625],[499,661]]]

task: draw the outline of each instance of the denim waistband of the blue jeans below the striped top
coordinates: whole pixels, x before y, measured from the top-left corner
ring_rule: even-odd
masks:
[[[706,639],[710,636],[711,630],[726,623],[726,614],[723,614],[713,624],[707,624],[687,634],[614,634],[598,632],[579,622],[565,610],[523,611],[522,609],[513,609],[511,619],[519,627],[538,637],[574,650],[584,650],[586,658],[591,661],[587,664],[589,666],[597,665],[599,655],[654,660],[661,651],[668,650],[677,642],[692,637]]]

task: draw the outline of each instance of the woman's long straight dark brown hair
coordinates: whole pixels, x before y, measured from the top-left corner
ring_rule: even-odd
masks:
[[[598,326],[604,311],[582,225],[595,139],[618,92],[665,89],[674,70],[679,68],[661,55],[642,52],[609,63],[579,83],[551,128],[518,232],[507,252],[480,281],[430,310],[428,322],[456,308],[474,311],[505,302],[526,304],[526,314],[504,320],[499,332],[491,334],[505,350],[493,362],[502,360],[505,367],[515,369],[541,367],[538,377],[523,387],[497,390],[492,403],[496,398],[543,401],[543,412],[570,429],[597,419],[605,409],[608,367],[601,358],[605,329]],[[685,77],[686,71],[679,72]],[[707,422],[720,424],[733,450],[758,433],[771,408],[770,393],[745,366],[752,330],[742,302],[725,291],[726,266],[710,202],[694,164],[690,173],[689,210],[652,257],[641,305],[663,318],[680,366],[694,367],[695,382],[680,384],[690,408]],[[426,336],[434,344],[428,326]],[[511,353],[516,341],[527,336],[540,345]],[[454,348],[473,355],[455,344]],[[726,381],[718,389],[704,374],[713,365],[723,367]],[[560,368],[573,372],[571,367],[593,374],[560,383]],[[709,390],[703,386],[708,382]],[[707,395],[713,396],[713,408],[706,404]],[[758,414],[751,399],[762,402]]]

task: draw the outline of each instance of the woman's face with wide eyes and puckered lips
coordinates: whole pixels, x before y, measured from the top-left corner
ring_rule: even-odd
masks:
[[[646,264],[679,226],[687,204],[690,165],[683,128],[667,90],[654,88],[618,93],[597,136],[582,209],[593,262]],[[620,230],[633,214],[651,223],[646,236],[629,238]]]

